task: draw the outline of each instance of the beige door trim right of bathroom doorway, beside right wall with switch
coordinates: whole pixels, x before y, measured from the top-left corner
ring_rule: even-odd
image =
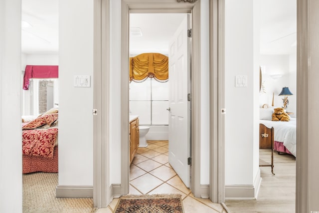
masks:
[[[209,105],[210,105],[210,181],[209,198],[213,203],[225,202],[225,117],[224,101],[224,37],[225,0],[209,1]]]

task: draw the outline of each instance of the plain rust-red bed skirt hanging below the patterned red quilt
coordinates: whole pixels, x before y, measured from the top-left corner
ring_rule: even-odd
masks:
[[[22,155],[22,173],[58,173],[58,146],[54,147],[53,158]]]

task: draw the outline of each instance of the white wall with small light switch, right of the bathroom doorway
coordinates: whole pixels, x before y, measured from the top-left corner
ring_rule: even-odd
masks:
[[[259,66],[254,61],[253,17],[254,0],[225,1],[226,186],[252,185],[259,171],[259,155],[254,154],[259,143],[254,133],[258,129],[254,108],[258,109],[259,102]],[[235,75],[247,75],[247,87],[235,87]]]

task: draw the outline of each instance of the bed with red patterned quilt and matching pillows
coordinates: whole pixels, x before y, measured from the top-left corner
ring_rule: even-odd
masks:
[[[24,122],[23,122],[24,121]],[[58,172],[58,113],[22,118],[22,173]]]

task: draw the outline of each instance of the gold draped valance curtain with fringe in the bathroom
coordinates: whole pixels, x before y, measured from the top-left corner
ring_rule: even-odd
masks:
[[[130,81],[143,82],[154,78],[159,82],[168,81],[168,57],[160,53],[142,53],[130,57]]]

